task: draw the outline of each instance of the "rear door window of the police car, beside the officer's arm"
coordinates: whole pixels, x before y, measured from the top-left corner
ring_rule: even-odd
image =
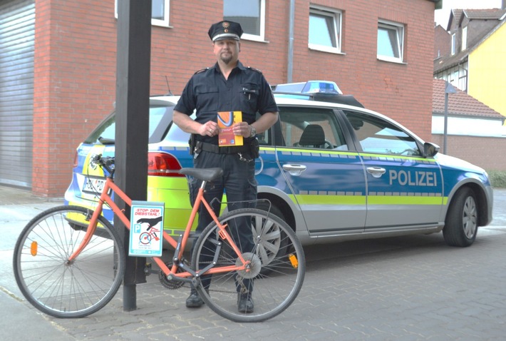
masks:
[[[277,128],[275,133],[282,138],[277,139],[277,143],[264,144],[317,149],[346,146],[336,114],[331,109],[279,107]],[[269,133],[266,136],[270,136]]]

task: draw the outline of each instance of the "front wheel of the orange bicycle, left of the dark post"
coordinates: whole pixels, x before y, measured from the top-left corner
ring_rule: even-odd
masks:
[[[107,305],[123,281],[123,243],[103,216],[86,248],[67,263],[92,214],[78,206],[50,208],[30,220],[19,235],[13,259],[16,283],[26,300],[47,315],[91,315]]]

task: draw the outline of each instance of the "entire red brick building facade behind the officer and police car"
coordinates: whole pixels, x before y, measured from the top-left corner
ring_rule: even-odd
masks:
[[[240,60],[272,84],[286,82],[290,1],[266,1],[265,42],[242,41]],[[343,13],[343,54],[308,48],[309,4]],[[180,93],[214,63],[207,29],[220,0],[171,1],[170,28],[153,26],[150,93]],[[378,19],[405,25],[404,63],[376,58]],[[293,81],[336,81],[364,106],[430,138],[434,3],[429,0],[296,0]],[[61,196],[73,154],[115,101],[114,1],[36,0],[33,193]]]

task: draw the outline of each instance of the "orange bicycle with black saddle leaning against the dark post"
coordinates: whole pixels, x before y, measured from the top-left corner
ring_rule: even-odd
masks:
[[[126,255],[117,227],[101,215],[103,205],[113,209],[126,228],[130,220],[111,198],[112,192],[129,206],[132,200],[115,185],[114,159],[97,156],[93,162],[107,171],[95,210],[58,206],[33,218],[14,249],[14,275],[19,289],[34,307],[54,317],[84,317],[104,307],[120,288]],[[207,183],[222,174],[220,168],[183,168],[180,173],[202,180],[185,232],[178,240],[163,232],[174,249],[170,263],[153,258],[160,281],[170,289],[193,285],[217,314],[235,322],[260,322],[286,310],[301,290],[305,274],[304,251],[293,230],[269,210],[241,208],[217,217],[203,193]],[[191,264],[183,252],[200,203],[213,222],[195,240]],[[234,229],[251,225],[254,249],[242,253]],[[146,273],[154,271],[146,268]],[[201,278],[211,278],[204,287]],[[247,292],[254,311],[237,310],[238,284],[253,280]],[[244,292],[243,292],[244,293]]]

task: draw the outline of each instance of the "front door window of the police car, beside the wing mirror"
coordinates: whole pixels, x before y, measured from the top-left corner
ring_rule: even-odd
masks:
[[[415,139],[381,118],[344,111],[364,152],[421,156]]]

